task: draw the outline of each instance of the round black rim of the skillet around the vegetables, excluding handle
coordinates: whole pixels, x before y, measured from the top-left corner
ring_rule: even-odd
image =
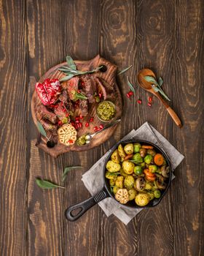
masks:
[[[119,203],[115,198],[114,198],[114,194],[111,192],[110,190],[110,185],[109,185],[109,179],[106,178],[106,163],[109,161],[109,159],[111,158],[111,154],[113,153],[113,151],[119,146],[120,143],[146,143],[146,144],[149,144],[151,146],[154,146],[154,148],[157,148],[157,151],[159,151],[161,154],[164,155],[165,159],[167,160],[168,162],[168,166],[170,167],[170,176],[169,176],[169,179],[168,179],[168,185],[166,187],[166,189],[164,190],[164,192],[162,192],[162,195],[160,198],[154,198],[152,201],[149,202],[148,205],[146,206],[137,206],[136,203],[133,203],[133,206],[131,205],[127,205],[127,204],[122,204],[122,203]],[[144,208],[152,208],[154,206],[157,206],[162,198],[165,196],[166,192],[168,191],[168,188],[170,187],[170,182],[171,182],[171,177],[172,177],[172,169],[171,169],[171,165],[170,165],[170,160],[167,156],[167,154],[157,145],[155,145],[154,143],[152,142],[149,142],[147,140],[136,140],[136,139],[130,139],[130,140],[123,140],[123,141],[119,141],[118,143],[115,144],[115,146],[113,148],[111,148],[111,152],[109,153],[109,156],[106,157],[106,162],[104,163],[103,165],[103,183],[104,183],[104,187],[106,188],[106,191],[109,193],[110,197],[112,197],[114,200],[117,201],[117,203],[119,203],[121,206],[125,206],[125,208],[141,208],[141,209],[144,209]],[[133,202],[133,200],[132,200]],[[128,202],[128,203],[131,203]],[[154,204],[153,204],[154,203]]]

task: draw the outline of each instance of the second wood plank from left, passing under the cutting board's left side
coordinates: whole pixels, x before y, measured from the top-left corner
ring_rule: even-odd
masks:
[[[63,189],[43,190],[36,177],[62,184],[62,162],[36,148],[37,130],[31,118],[31,94],[35,79],[63,61],[63,31],[59,1],[26,2],[29,77],[29,182],[28,255],[63,255]]]

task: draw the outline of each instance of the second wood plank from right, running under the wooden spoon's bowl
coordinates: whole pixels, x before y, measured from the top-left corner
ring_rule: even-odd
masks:
[[[170,99],[173,99],[170,60],[173,55],[174,28],[169,20],[174,19],[173,4],[172,1],[138,1],[136,7],[137,70],[147,67],[154,70],[157,77],[161,75],[164,79],[162,88]],[[143,102],[137,105],[139,123],[149,121],[172,143],[175,124],[155,97],[152,108],[147,106],[149,96],[146,91],[138,88],[138,98]],[[172,193],[171,186],[159,206],[141,211],[134,220],[138,225],[138,255],[173,255]]]

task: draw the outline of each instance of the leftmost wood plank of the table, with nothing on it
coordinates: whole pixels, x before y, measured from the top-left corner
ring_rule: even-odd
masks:
[[[0,1],[0,255],[26,255],[27,68],[24,1]]]

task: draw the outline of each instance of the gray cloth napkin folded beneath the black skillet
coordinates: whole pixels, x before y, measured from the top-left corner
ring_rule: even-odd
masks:
[[[148,122],[144,123],[138,129],[133,129],[129,132],[122,140],[128,139],[140,139],[148,140],[160,148],[168,155],[171,163],[172,170],[175,170],[176,167],[184,159],[184,156],[180,154],[176,148],[174,148],[168,140],[166,140],[160,132],[157,132],[154,127]],[[122,141],[120,140],[120,141]],[[93,165],[83,176],[82,181],[85,184],[85,187],[88,189],[91,195],[95,195],[103,188],[103,165],[106,162],[106,157],[109,155],[111,149],[106,152],[106,154],[98,160],[98,162]],[[175,176],[172,176],[175,178]],[[114,214],[118,219],[120,219],[125,225],[130,222],[133,217],[136,216],[142,209],[128,209],[123,207],[121,204],[117,203],[116,200],[108,197],[98,203],[98,205],[103,209],[106,216],[109,217],[111,214]]]

